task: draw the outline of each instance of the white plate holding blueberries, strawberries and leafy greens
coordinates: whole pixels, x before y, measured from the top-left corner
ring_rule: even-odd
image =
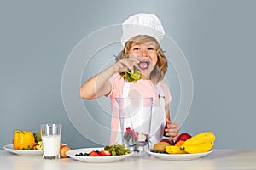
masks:
[[[90,151],[92,150],[104,150],[104,148],[84,148],[77,150],[68,150],[66,152],[66,155],[75,160],[84,161],[88,163],[107,163],[113,161],[120,161],[132,155],[131,153],[123,156],[75,156],[76,154],[79,153],[90,153]]]

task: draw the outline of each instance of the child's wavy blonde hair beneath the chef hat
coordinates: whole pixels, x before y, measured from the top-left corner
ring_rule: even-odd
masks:
[[[150,74],[149,79],[152,80],[152,82],[154,82],[155,84],[157,84],[165,77],[167,67],[168,67],[168,62],[165,54],[160,48],[159,42],[154,37],[151,37],[148,35],[138,35],[135,37],[131,37],[131,39],[125,43],[124,49],[119,53],[119,55],[115,58],[115,60],[119,61],[120,59],[128,58],[129,56],[127,54],[129,53],[131,46],[134,43],[141,44],[141,43],[147,43],[147,42],[154,42],[156,46],[155,48],[156,48],[156,54],[157,54],[157,62],[156,62],[156,65],[154,66],[153,71]],[[123,76],[124,73],[120,73],[120,75]]]

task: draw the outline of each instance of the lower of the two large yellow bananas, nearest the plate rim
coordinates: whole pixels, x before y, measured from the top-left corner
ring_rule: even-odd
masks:
[[[206,142],[202,144],[194,144],[189,145],[186,147],[181,147],[185,152],[188,152],[189,154],[195,154],[195,153],[203,153],[212,150],[213,144],[211,142]]]

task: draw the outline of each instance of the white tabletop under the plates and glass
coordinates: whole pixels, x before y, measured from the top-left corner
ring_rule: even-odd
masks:
[[[0,169],[9,170],[89,170],[89,169],[155,169],[155,170],[212,170],[256,169],[256,150],[213,150],[205,157],[190,161],[165,161],[154,156],[130,156],[112,163],[86,163],[71,158],[44,160],[41,156],[18,156],[0,150]]]

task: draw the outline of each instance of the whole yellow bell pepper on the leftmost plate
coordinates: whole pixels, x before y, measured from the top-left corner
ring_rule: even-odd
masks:
[[[15,130],[13,144],[15,150],[32,149],[35,145],[35,137],[31,131]]]

